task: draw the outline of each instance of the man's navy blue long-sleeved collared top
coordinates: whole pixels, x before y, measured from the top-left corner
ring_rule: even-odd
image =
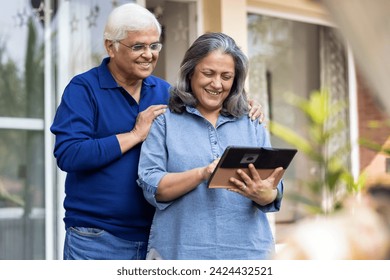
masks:
[[[115,82],[108,62],[70,81],[51,126],[54,156],[67,172],[65,227],[96,227],[146,241],[154,208],[136,182],[141,144],[122,155],[115,135],[131,131],[150,105],[167,104],[170,85],[149,76],[138,104]]]

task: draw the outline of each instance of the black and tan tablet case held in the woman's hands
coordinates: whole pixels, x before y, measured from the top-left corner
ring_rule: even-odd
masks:
[[[225,149],[217,167],[208,181],[209,188],[231,188],[230,177],[241,180],[237,169],[250,174],[248,165],[253,163],[262,179],[268,178],[275,168],[283,167],[275,186],[297,153],[296,149],[229,146]]]

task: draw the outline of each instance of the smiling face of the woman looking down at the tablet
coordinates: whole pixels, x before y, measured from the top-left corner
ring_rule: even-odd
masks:
[[[195,67],[191,88],[203,115],[219,113],[234,81],[234,60],[219,50],[211,52]]]

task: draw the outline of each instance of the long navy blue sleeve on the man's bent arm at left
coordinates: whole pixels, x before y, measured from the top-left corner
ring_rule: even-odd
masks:
[[[50,128],[56,136],[54,156],[62,170],[92,170],[122,155],[116,135],[95,138],[96,114],[96,101],[90,87],[71,82]]]

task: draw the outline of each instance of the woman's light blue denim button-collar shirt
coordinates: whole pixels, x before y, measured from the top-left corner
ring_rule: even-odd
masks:
[[[170,202],[155,193],[168,172],[210,164],[228,145],[270,147],[258,121],[219,116],[213,127],[192,107],[183,114],[167,112],[154,122],[142,144],[138,183],[156,207],[148,251],[163,259],[268,259],[274,239],[266,212],[278,211],[281,198],[260,206],[225,189],[208,189],[206,181]],[[283,185],[278,189],[283,193]]]

